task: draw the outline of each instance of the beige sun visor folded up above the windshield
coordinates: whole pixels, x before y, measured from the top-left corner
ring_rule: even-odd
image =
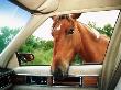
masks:
[[[59,0],[9,0],[30,13],[50,13],[58,9]]]

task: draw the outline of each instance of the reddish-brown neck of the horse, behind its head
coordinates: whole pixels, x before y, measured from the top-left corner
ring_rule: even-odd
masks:
[[[97,58],[97,53],[99,52],[98,44],[97,44],[97,37],[94,35],[84,24],[78,23],[78,31],[80,33],[81,37],[81,49],[79,52],[80,56],[85,59],[87,63],[99,63],[101,60],[100,58]]]

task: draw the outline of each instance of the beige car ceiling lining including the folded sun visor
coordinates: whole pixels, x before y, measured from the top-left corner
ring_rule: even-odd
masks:
[[[31,13],[79,13],[121,9],[121,0],[10,0]]]

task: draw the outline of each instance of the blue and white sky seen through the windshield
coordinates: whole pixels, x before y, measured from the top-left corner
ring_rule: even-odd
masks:
[[[21,27],[31,18],[31,14],[8,0],[0,0],[0,27]]]

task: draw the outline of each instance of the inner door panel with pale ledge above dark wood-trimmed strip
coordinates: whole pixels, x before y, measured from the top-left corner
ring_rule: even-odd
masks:
[[[101,65],[70,66],[68,77],[55,78],[51,66],[22,66],[14,69],[14,85],[98,87]]]

